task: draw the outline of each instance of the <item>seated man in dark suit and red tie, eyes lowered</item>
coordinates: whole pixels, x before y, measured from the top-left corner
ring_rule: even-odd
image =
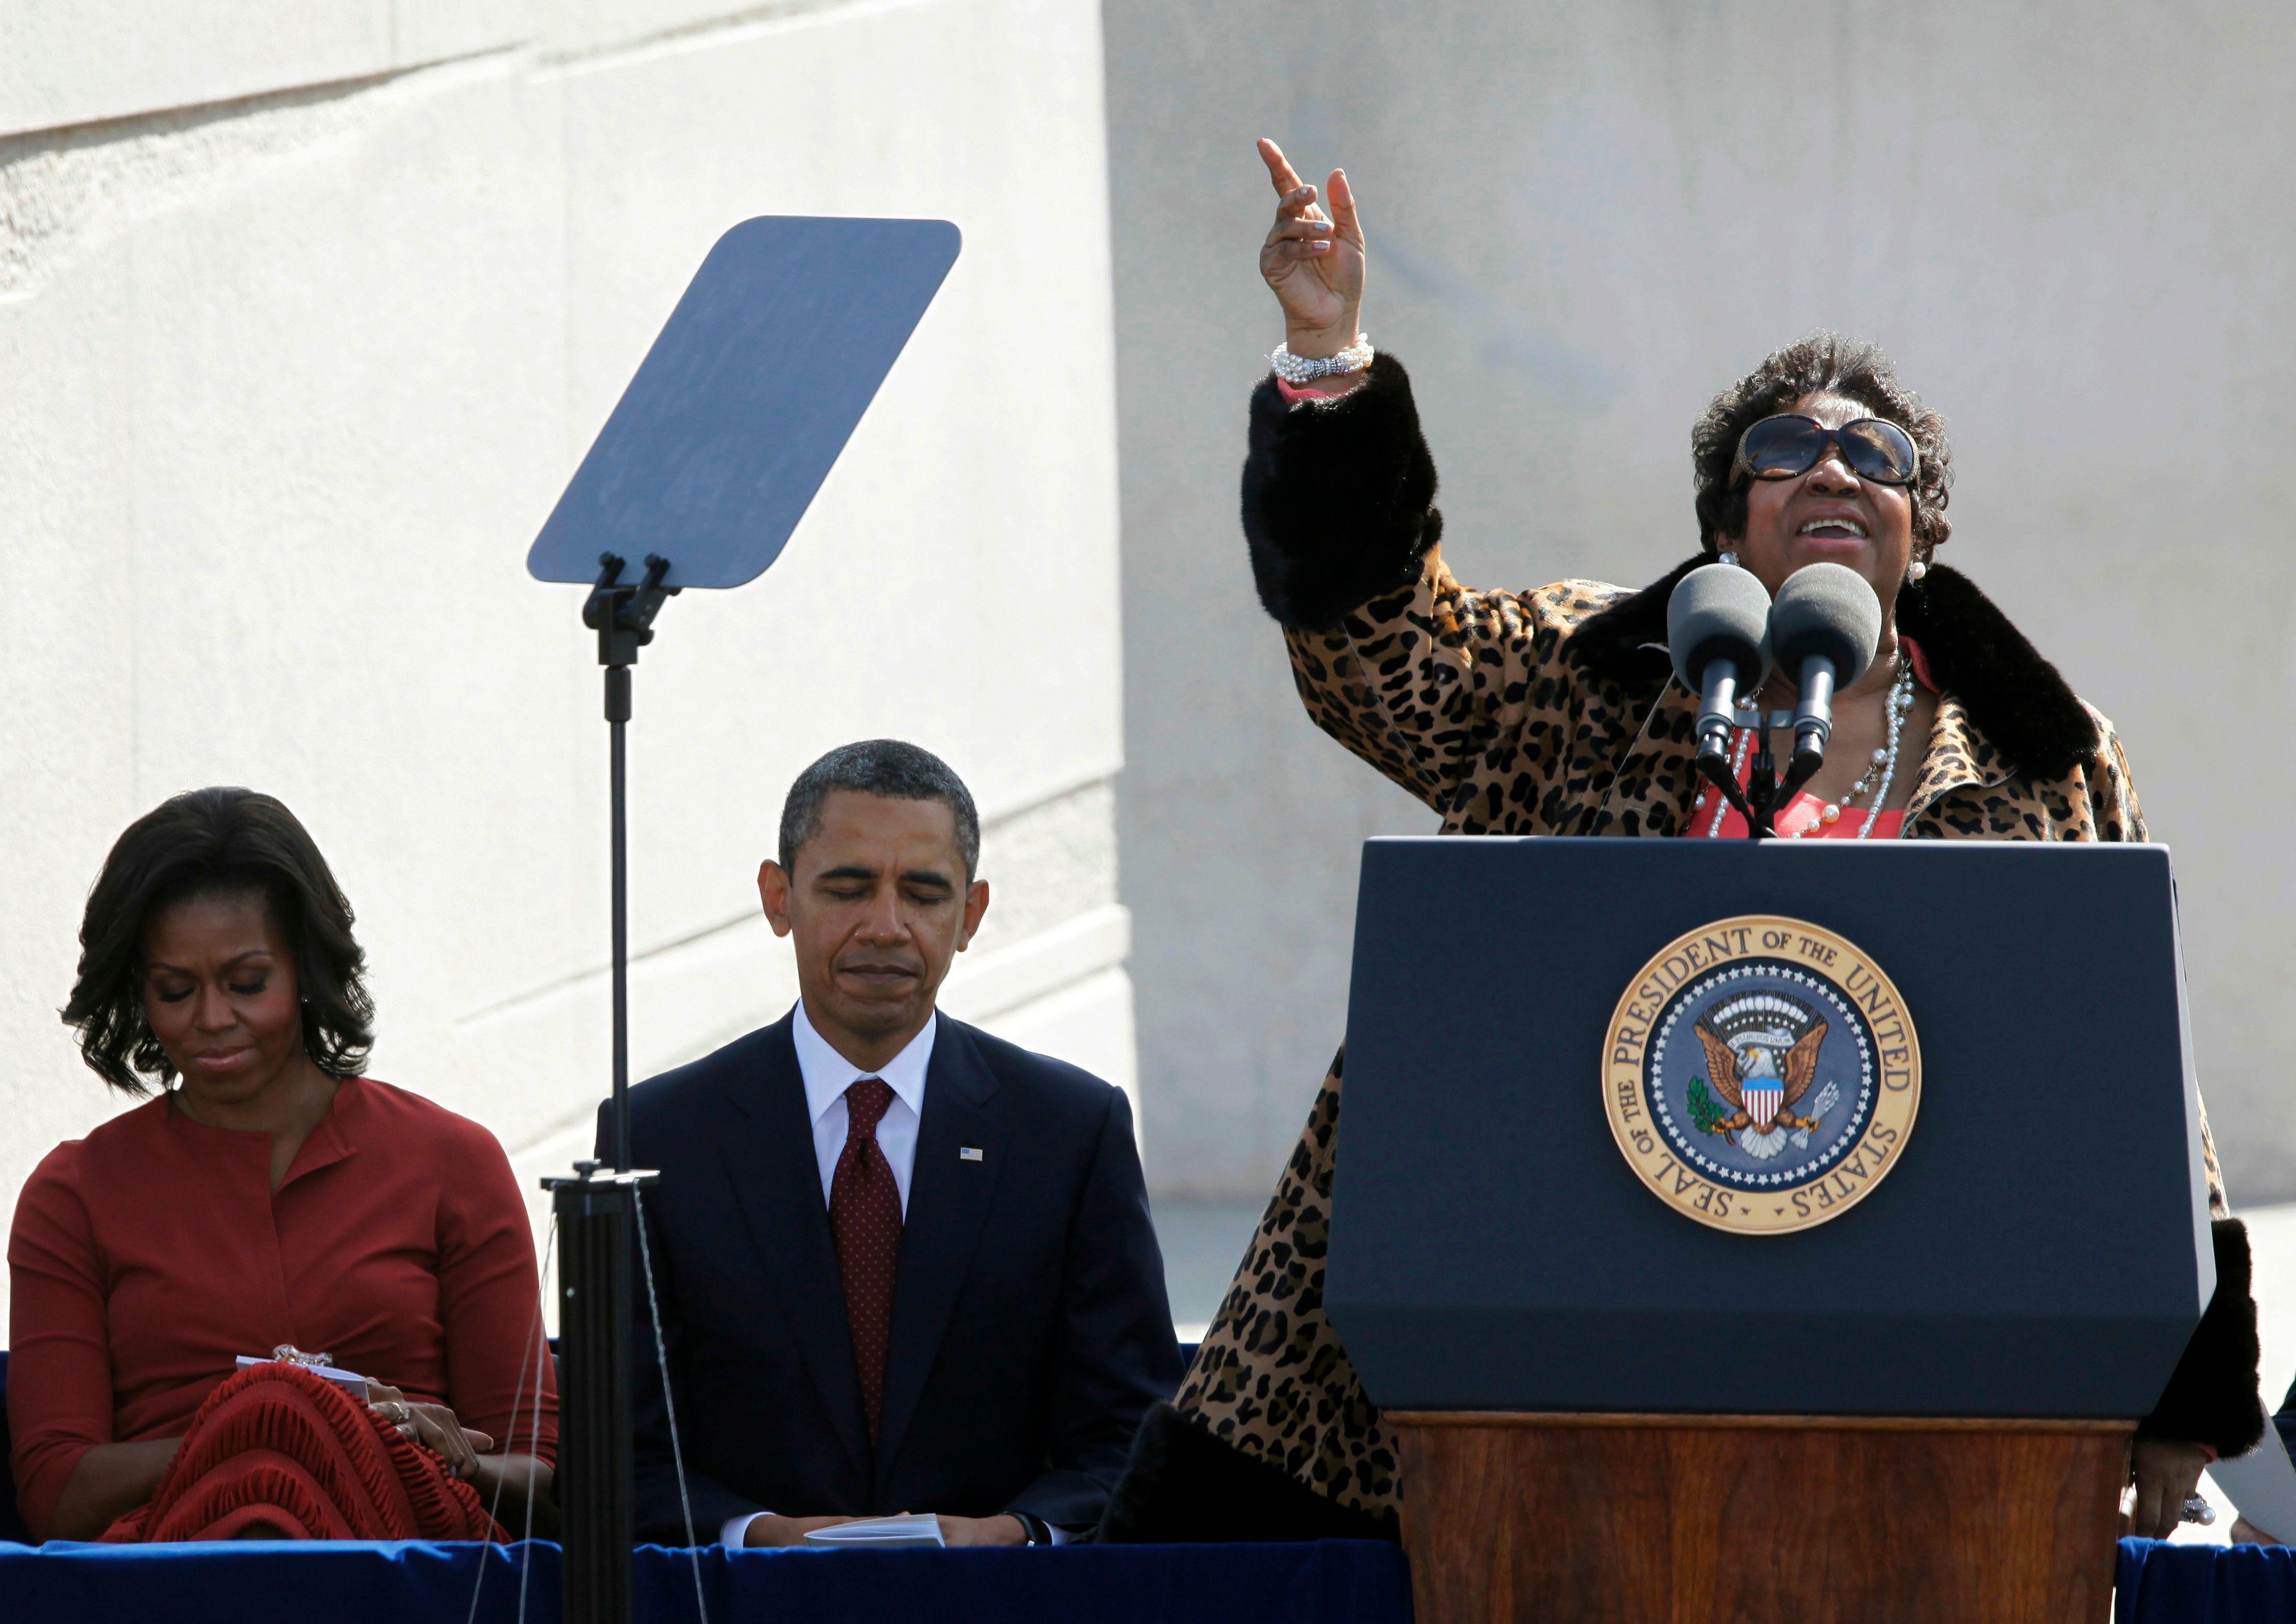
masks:
[[[806,767],[758,871],[797,1008],[631,1089],[703,1541],[934,1511],[948,1544],[1058,1544],[1178,1387],[1125,1096],[934,1013],[987,910],[978,854],[937,756]],[[682,1541],[643,1289],[634,1401],[638,1534]]]

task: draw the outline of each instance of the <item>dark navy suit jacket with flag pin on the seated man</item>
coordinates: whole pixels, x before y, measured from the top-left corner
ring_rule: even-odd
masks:
[[[875,1449],[790,1018],[638,1084],[629,1121],[631,1165],[661,1171],[645,1234],[696,1539],[742,1511],[1100,1518],[1180,1385],[1123,1091],[941,1015]],[[631,1296],[638,1537],[682,1544]]]

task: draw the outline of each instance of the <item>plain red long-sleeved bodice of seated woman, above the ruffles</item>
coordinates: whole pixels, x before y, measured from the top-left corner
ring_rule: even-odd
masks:
[[[7,1410],[34,1539],[87,1449],[184,1436],[236,1355],[282,1341],[556,1459],[510,1160],[386,1082],[338,1086],[276,1192],[266,1132],[204,1128],[168,1096],[115,1116],[34,1169],[7,1261]]]

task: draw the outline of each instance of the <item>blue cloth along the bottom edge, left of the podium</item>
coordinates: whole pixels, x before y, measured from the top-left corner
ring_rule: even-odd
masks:
[[[464,1624],[558,1619],[558,1546],[7,1546],[0,1619],[57,1624]],[[1394,1546],[1075,1546],[1065,1550],[735,1550],[641,1546],[638,1619],[712,1624],[1410,1624]],[[471,1592],[478,1587],[478,1608]]]

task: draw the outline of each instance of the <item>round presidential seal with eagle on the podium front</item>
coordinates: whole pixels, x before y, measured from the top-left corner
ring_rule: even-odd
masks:
[[[1609,1132],[1642,1183],[1715,1229],[1841,1217],[1896,1167],[1919,1105],[1922,1047],[1890,976],[1800,919],[1667,942],[1609,1018]]]

